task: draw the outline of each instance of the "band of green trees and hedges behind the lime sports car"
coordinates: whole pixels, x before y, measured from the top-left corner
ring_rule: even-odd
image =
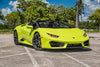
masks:
[[[83,21],[82,14],[85,13],[86,4],[82,0],[77,0],[75,6],[69,8],[63,4],[48,6],[41,0],[18,0],[18,2],[17,11],[6,16],[3,16],[0,11],[0,19],[3,20],[3,23],[0,23],[0,33],[12,33],[16,26],[36,20],[65,21],[81,29],[88,29],[88,32],[100,30],[100,9],[96,9],[87,21]],[[79,16],[81,21],[79,21]]]

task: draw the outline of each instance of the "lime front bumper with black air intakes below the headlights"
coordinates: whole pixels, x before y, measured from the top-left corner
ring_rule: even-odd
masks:
[[[90,46],[89,39],[84,41],[57,41],[43,38],[41,44],[44,49],[86,48]]]

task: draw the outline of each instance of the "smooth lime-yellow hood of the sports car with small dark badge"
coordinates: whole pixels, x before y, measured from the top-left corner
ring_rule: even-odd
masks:
[[[89,37],[84,37],[84,31],[79,28],[40,28],[42,35],[50,37],[51,39],[63,40],[63,41],[85,41]],[[58,38],[49,36],[49,34],[57,35]]]

